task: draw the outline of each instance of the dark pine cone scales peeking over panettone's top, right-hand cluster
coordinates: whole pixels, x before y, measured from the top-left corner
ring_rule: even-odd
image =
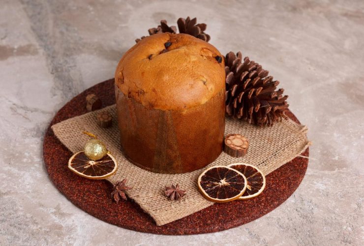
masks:
[[[180,33],[187,33],[194,37],[200,38],[206,42],[210,41],[210,35],[206,34],[204,31],[206,30],[207,25],[205,23],[196,24],[197,19],[193,18],[190,20],[189,16],[186,19],[180,18],[177,21],[178,30]]]

